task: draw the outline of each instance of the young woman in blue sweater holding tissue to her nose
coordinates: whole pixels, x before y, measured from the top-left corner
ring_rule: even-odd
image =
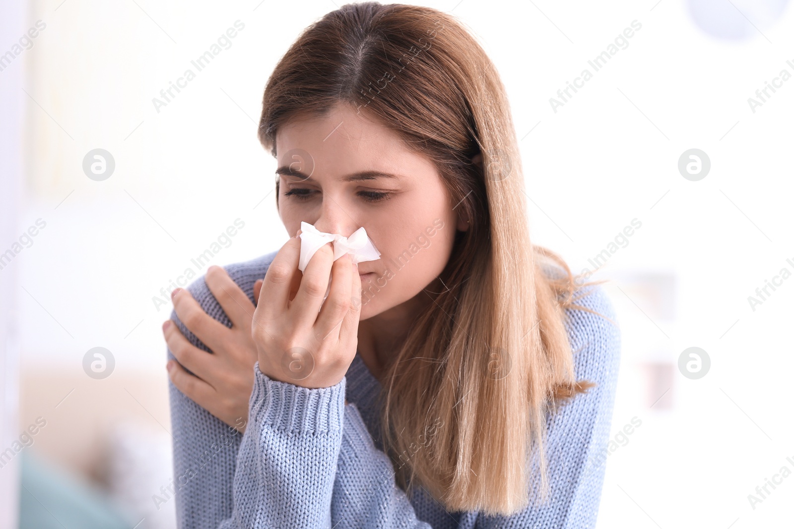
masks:
[[[177,289],[164,325],[179,526],[593,527],[619,328],[530,242],[507,98],[464,26],[328,13],[268,80],[259,139],[293,237]],[[302,274],[301,221],[363,226],[380,259],[326,244]]]

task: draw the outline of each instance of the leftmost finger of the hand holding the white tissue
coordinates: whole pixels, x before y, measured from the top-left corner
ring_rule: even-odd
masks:
[[[293,278],[300,274],[300,239],[293,238],[284,243],[273,258],[264,274],[264,282],[257,297],[256,314],[260,321],[277,320],[287,310],[289,293]],[[268,300],[264,302],[263,294],[267,292]]]

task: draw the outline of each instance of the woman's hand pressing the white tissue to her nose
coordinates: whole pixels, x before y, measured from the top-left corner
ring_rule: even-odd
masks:
[[[349,254],[333,260],[330,243],[312,256],[300,276],[300,245],[298,236],[288,240],[268,267],[252,337],[259,369],[269,378],[326,388],[344,378],[356,355],[361,278]],[[329,277],[330,293],[323,302]]]

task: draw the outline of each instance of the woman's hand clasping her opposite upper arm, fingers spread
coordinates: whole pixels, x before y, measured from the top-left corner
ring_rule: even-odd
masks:
[[[172,300],[179,320],[214,354],[188,342],[174,322],[167,320],[163,325],[165,341],[179,360],[168,362],[168,377],[196,404],[243,432],[256,362],[251,336],[254,305],[220,266],[210,266],[204,280],[232,321],[232,328],[204,312],[187,289],[174,290]],[[254,286],[254,299],[259,298],[261,285],[260,279]]]

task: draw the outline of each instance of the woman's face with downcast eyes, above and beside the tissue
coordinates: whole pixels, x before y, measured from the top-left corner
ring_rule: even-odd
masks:
[[[363,226],[380,251],[358,266],[360,320],[421,293],[444,270],[456,230],[468,229],[433,163],[348,105],[291,121],[276,147],[279,215],[289,235],[301,221],[346,237]]]

